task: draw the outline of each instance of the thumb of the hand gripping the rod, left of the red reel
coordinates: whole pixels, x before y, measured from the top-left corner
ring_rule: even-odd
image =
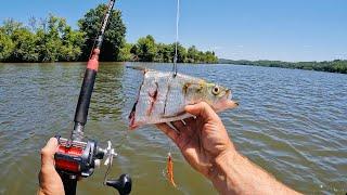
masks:
[[[57,140],[51,138],[46,146],[41,150],[41,166],[53,166],[54,167],[54,154],[57,150]]]

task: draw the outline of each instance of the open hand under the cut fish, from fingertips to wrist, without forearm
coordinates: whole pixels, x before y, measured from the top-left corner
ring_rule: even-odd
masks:
[[[180,148],[185,160],[208,179],[214,177],[216,159],[235,152],[218,115],[205,102],[185,106],[196,118],[175,121],[174,130],[167,123],[156,125]]]

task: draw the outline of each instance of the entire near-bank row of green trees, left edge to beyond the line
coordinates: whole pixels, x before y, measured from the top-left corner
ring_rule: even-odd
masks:
[[[5,20],[0,26],[0,62],[87,61],[101,27],[105,4],[89,10],[73,29],[63,17],[30,17],[27,25]],[[175,44],[156,43],[152,36],[126,43],[126,26],[119,10],[114,10],[100,55],[101,61],[172,62]],[[178,62],[217,63],[214,52],[195,47],[178,47]]]

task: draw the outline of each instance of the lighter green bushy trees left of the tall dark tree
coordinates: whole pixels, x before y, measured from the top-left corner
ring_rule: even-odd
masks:
[[[31,30],[7,20],[1,31],[1,62],[77,61],[81,54],[83,32],[73,30],[65,18],[52,14],[38,25],[30,18]]]

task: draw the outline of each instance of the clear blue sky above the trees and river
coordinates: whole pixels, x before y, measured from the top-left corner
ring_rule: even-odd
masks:
[[[49,13],[77,21],[107,0],[1,0],[0,20],[24,23]],[[126,39],[171,43],[177,0],[119,0]],[[232,60],[347,58],[347,0],[180,0],[179,41]]]

